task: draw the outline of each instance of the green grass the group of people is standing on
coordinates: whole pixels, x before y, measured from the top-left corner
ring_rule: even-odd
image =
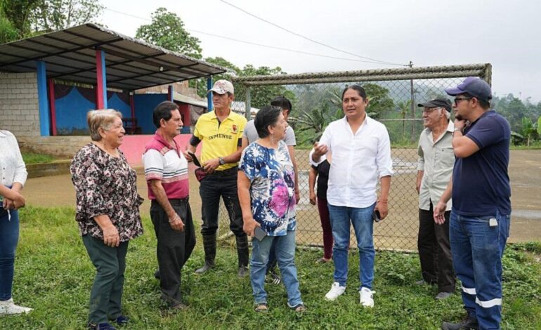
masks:
[[[71,208],[26,207],[15,263],[13,296],[34,308],[30,315],[1,317],[2,329],[84,329],[94,268],[86,255]],[[296,264],[308,311],[289,310],[283,286],[268,285],[271,312],[253,312],[249,279],[236,276],[233,243],[219,246],[217,268],[208,275],[193,271],[203,263],[200,240],[183,270],[182,291],[190,309],[168,312],[159,303],[155,237],[148,218],[145,235],[131,242],[124,284],[127,329],[439,329],[442,320],[463,315],[460,295],[434,300],[436,288],[415,286],[415,254],[377,253],[374,299],[358,303],[358,257],[350,254],[349,286],[330,303],[323,296],[332,284],[333,266],[316,264],[321,251],[298,250]],[[198,236],[200,239],[200,236]],[[541,243],[509,246],[504,256],[503,329],[541,329]]]

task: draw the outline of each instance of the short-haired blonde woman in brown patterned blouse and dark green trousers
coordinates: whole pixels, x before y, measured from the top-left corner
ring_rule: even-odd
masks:
[[[89,329],[113,330],[109,319],[127,324],[122,315],[126,251],[130,239],[143,234],[136,171],[118,149],[124,138],[122,114],[91,110],[86,116],[92,142],[75,154],[70,171],[76,191],[82,240],[96,267],[89,306]]]

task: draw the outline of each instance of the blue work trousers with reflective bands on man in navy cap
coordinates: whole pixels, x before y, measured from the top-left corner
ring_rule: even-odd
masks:
[[[497,224],[490,227],[490,218]],[[500,329],[502,256],[509,237],[509,215],[460,216],[451,211],[452,263],[462,281],[462,302],[479,329]]]

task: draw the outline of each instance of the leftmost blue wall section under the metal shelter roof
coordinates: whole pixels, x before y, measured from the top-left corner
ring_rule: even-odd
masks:
[[[55,100],[56,131],[59,136],[81,136],[89,133],[86,125],[86,112],[96,109],[96,105],[72,88],[63,98]]]

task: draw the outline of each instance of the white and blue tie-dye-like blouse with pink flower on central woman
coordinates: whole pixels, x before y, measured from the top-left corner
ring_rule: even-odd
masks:
[[[240,157],[239,171],[252,185],[252,214],[268,236],[284,236],[295,230],[294,170],[287,145],[277,149],[252,143]]]

